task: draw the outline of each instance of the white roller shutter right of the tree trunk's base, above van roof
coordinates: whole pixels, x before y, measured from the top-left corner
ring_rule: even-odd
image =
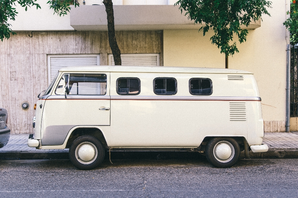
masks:
[[[159,66],[159,54],[121,54],[122,65]],[[108,56],[109,65],[115,65],[113,54]]]

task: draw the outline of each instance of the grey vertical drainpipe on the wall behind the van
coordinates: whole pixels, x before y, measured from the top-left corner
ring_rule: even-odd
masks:
[[[290,132],[291,45],[287,45],[286,132]]]

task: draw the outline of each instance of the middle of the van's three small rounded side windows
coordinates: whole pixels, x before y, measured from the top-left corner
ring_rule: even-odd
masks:
[[[156,95],[175,95],[177,80],[175,78],[156,78],[153,80],[153,88]]]

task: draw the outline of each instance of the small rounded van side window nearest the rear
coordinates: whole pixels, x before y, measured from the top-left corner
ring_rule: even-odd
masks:
[[[212,81],[209,78],[192,78],[189,80],[189,92],[192,95],[211,95]]]

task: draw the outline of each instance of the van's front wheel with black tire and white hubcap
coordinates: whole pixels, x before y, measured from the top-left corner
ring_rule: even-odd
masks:
[[[81,155],[81,156],[80,156]],[[71,144],[69,159],[81,170],[91,170],[102,163],[105,149],[102,142],[94,136],[80,136]]]

